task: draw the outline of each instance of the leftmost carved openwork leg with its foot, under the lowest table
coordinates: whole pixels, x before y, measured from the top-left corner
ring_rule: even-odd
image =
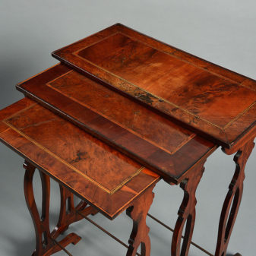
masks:
[[[36,207],[36,201],[33,194],[33,175],[35,167],[25,161],[24,168],[26,169],[24,176],[24,194],[27,202],[27,207],[30,210],[31,217],[36,232],[36,250],[33,252],[33,256],[51,255],[57,251],[61,251],[58,245],[55,245],[54,240],[49,231],[49,197],[50,197],[50,180],[49,176],[40,172],[40,178],[42,181],[42,215],[38,212]],[[62,247],[67,246],[70,243],[76,244],[81,238],[71,233],[67,238],[58,242]]]

